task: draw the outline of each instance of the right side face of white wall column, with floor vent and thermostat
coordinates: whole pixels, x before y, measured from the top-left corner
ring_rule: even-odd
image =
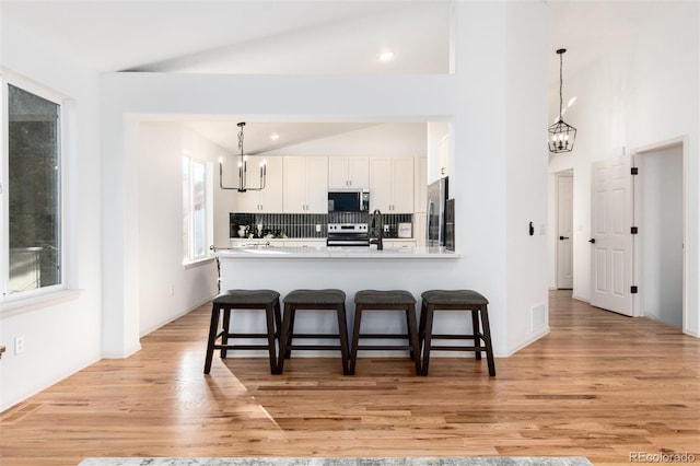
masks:
[[[508,14],[508,68],[503,137],[506,143],[508,191],[508,341],[514,351],[546,335],[549,327],[533,325],[534,308],[547,314],[547,158],[544,128],[547,115],[533,112],[547,101],[549,35],[544,4],[514,2]],[[522,40],[527,37],[528,40]],[[530,69],[528,73],[522,70]],[[529,235],[533,222],[535,234]]]

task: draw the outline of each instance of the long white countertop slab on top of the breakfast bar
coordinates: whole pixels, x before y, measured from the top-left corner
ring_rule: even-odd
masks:
[[[218,249],[219,258],[269,258],[269,259],[456,259],[458,253],[444,247],[234,247]]]

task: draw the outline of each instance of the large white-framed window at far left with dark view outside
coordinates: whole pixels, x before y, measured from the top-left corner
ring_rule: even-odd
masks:
[[[3,82],[0,286],[11,298],[62,284],[61,106]]]

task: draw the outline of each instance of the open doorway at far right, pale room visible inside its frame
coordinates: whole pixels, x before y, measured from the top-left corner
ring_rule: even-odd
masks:
[[[634,189],[642,315],[677,328],[684,322],[682,151],[682,143],[676,143],[638,153]]]

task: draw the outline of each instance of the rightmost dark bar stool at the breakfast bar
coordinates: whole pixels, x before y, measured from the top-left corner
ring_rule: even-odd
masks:
[[[481,359],[481,351],[486,351],[489,364],[489,375],[495,375],[493,349],[491,347],[491,329],[489,327],[489,301],[472,290],[430,290],[421,294],[420,342],[423,349],[423,375],[428,375],[430,350],[441,351],[475,351],[476,359]],[[433,316],[435,311],[467,311],[471,312],[471,335],[433,335]],[[481,316],[482,333],[479,333],[479,316]],[[433,339],[474,340],[474,346],[433,346]],[[483,345],[481,345],[483,341]]]

